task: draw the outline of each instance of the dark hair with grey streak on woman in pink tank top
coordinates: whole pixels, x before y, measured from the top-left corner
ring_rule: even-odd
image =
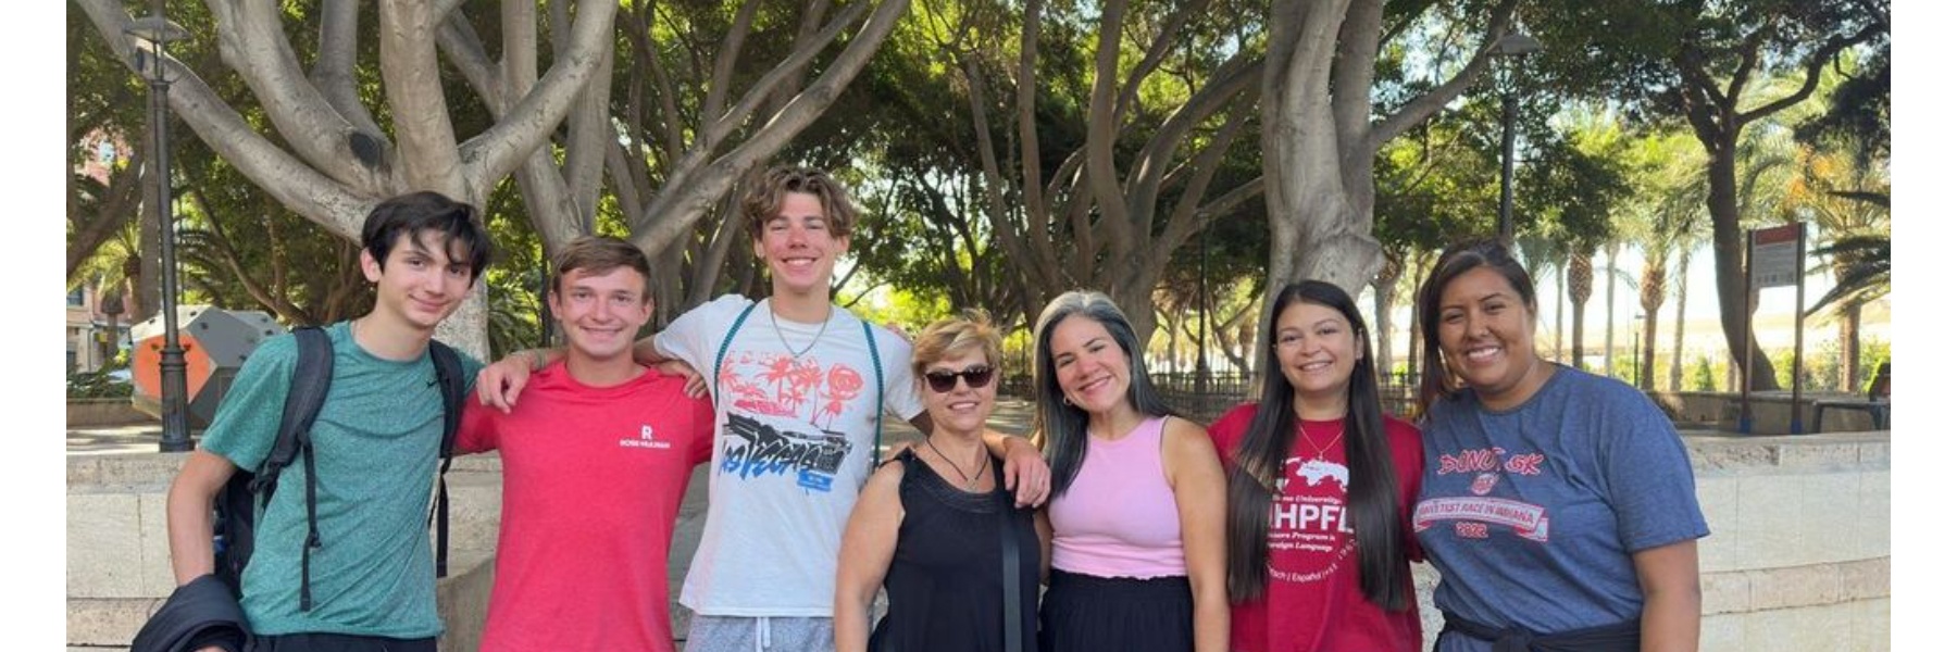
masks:
[[[1127,315],[1121,313],[1119,305],[1114,305],[1114,300],[1100,292],[1072,290],[1047,302],[1047,307],[1039,311],[1039,325],[1033,327],[1033,337],[1037,337],[1033,392],[1039,405],[1033,411],[1033,437],[1047,456],[1047,468],[1053,470],[1055,497],[1067,493],[1067,486],[1074,482],[1080,462],[1088,456],[1088,413],[1067,403],[1061,382],[1053,378],[1053,327],[1072,315],[1098,321],[1115,345],[1121,345],[1121,354],[1127,356],[1127,399],[1135,403],[1137,411],[1149,417],[1174,413],[1149,384],[1149,368],[1141,364],[1141,339],[1135,337],[1135,327],[1127,323]]]

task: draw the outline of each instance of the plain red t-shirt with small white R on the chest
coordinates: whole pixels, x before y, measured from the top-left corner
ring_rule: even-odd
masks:
[[[665,556],[712,403],[646,372],[613,388],[564,364],[505,415],[464,409],[458,452],[501,450],[503,527],[481,650],[673,650]]]

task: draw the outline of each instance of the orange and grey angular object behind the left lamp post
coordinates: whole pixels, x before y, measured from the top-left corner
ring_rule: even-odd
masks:
[[[176,341],[184,347],[184,421],[192,431],[211,425],[217,403],[231,390],[245,358],[258,343],[286,333],[262,311],[209,305],[176,307]],[[129,403],[151,417],[162,417],[162,315],[129,327],[129,374],[135,392]]]

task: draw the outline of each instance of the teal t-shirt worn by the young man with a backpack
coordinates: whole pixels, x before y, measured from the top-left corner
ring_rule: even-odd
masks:
[[[311,558],[313,609],[299,611],[303,454],[280,474],[278,491],[258,515],[241,605],[258,634],[438,636],[427,529],[442,441],[434,364],[427,352],[409,362],[376,358],[354,345],[344,321],[327,335],[333,386],[313,423],[321,542]],[[296,356],[292,335],[252,350],[204,433],[205,450],[241,470],[258,468],[278,435]],[[479,368],[462,356],[470,384]]]

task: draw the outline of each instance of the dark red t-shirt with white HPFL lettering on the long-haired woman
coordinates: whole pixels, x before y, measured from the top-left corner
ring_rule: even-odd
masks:
[[[1233,407],[1209,425],[1209,441],[1225,466],[1235,466],[1237,442],[1256,415],[1256,403]],[[1358,587],[1358,548],[1344,517],[1346,458],[1343,421],[1305,421],[1305,437],[1284,462],[1282,495],[1270,503],[1270,583],[1264,597],[1231,605],[1233,652],[1419,650],[1419,609],[1388,613]],[[1386,417],[1386,439],[1399,472],[1401,519],[1421,493],[1421,431]],[[1325,450],[1319,452],[1317,448]],[[1419,542],[1405,538],[1409,564]],[[1407,597],[1413,597],[1411,580]]]

